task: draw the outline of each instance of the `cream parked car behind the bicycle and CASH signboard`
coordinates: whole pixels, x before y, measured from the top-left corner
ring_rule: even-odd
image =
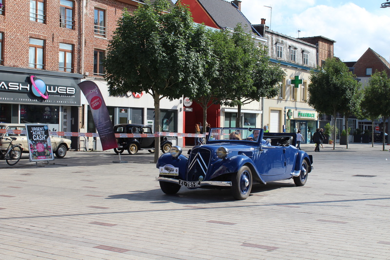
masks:
[[[10,130],[26,130],[24,124],[13,124],[13,123],[0,123],[0,129],[10,129]],[[28,153],[28,140],[27,136],[24,134],[0,134],[0,137],[15,137],[16,140],[14,143],[20,143],[22,152]],[[50,141],[52,144],[53,153],[56,154],[57,158],[64,158],[66,152],[69,150],[71,145],[71,140],[60,137],[50,136]],[[2,143],[0,141],[0,149],[7,149],[8,144]]]

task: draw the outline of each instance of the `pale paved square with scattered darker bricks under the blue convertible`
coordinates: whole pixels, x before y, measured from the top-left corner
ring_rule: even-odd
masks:
[[[390,153],[301,146],[314,160],[305,186],[257,184],[242,201],[164,195],[147,151],[0,161],[0,259],[390,259]]]

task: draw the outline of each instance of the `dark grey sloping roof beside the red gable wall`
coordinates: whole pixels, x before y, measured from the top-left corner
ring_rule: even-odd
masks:
[[[259,35],[234,3],[225,0],[198,0],[198,2],[220,28],[234,29],[241,23],[246,33]]]

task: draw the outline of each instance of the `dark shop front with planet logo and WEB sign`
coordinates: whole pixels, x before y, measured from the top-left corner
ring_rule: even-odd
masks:
[[[0,122],[78,132],[81,75],[0,67]]]

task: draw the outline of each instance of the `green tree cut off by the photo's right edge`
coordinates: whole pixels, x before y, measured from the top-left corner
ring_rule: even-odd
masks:
[[[372,118],[381,117],[383,122],[382,146],[385,151],[385,122],[390,117],[390,79],[386,71],[375,71],[364,89],[362,108]],[[373,129],[372,129],[373,130]],[[372,131],[373,132],[373,131]],[[372,134],[372,142],[374,141]]]

